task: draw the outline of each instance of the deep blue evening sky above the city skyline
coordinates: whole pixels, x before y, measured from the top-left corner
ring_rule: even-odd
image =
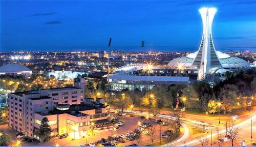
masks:
[[[202,7],[216,7],[217,50],[256,50],[256,1],[1,1],[1,51],[197,50]]]

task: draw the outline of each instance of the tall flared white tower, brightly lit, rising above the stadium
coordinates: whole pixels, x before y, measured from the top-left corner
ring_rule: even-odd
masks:
[[[212,40],[211,26],[216,8],[201,8],[200,14],[203,21],[203,35],[198,53],[193,61],[193,65],[199,69],[199,79],[205,77],[210,68],[220,67],[220,59],[216,53],[214,42]]]

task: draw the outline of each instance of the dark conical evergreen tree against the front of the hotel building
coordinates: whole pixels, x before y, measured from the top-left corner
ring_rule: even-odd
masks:
[[[44,117],[41,121],[40,125],[40,137],[42,142],[46,142],[50,140],[50,134],[52,132],[51,127],[49,126],[49,120],[47,117]]]

